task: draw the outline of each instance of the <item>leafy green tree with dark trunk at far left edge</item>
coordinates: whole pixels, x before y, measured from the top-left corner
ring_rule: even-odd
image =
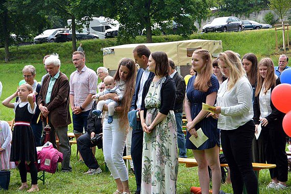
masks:
[[[9,61],[9,45],[11,33],[17,36],[29,35],[47,25],[37,0],[1,0],[0,1],[0,42],[4,42],[5,62]]]

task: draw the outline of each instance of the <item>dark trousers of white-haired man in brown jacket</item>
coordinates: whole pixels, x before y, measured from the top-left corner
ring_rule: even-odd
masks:
[[[46,126],[46,120],[43,120],[42,125],[43,128]],[[59,151],[63,154],[62,172],[71,172],[72,171],[72,167],[70,166],[71,150],[67,134],[68,126],[54,127],[53,124],[51,123],[50,117],[48,117],[48,125],[50,125],[51,127],[50,142],[53,143],[55,149],[57,149],[56,133],[59,137]]]

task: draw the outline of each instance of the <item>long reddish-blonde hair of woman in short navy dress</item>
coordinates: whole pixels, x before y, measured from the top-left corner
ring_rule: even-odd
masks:
[[[204,65],[200,71],[199,76],[196,76],[194,88],[206,92],[211,86],[211,75],[213,74],[212,62],[210,54],[205,49],[198,49],[193,52],[198,54],[203,59]]]

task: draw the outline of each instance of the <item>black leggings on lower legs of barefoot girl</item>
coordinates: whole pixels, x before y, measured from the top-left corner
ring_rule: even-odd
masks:
[[[30,162],[28,165],[30,169],[30,176],[31,176],[31,184],[36,185],[37,184],[37,169],[35,166],[34,162]],[[26,164],[25,161],[21,160],[19,165],[19,174],[21,178],[21,183],[26,183],[27,182],[27,169],[26,169]]]

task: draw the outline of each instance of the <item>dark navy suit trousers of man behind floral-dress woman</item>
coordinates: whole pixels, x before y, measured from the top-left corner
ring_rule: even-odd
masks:
[[[136,191],[140,193],[141,186],[141,161],[142,161],[142,140],[143,131],[140,121],[137,122],[137,128],[132,129],[131,135],[131,158],[134,167]]]

